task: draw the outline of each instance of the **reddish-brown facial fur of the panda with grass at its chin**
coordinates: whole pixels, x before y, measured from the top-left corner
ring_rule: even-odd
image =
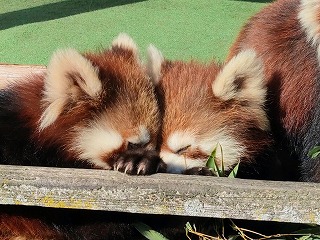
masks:
[[[223,101],[213,94],[212,83],[222,68],[214,62],[204,65],[194,61],[165,61],[162,64],[158,87],[164,108],[161,152],[172,152],[167,141],[176,131],[194,133],[202,140],[214,137],[219,130],[228,131],[246,146],[240,158],[244,166],[255,162],[261,152],[270,148],[272,141],[268,133],[257,127],[261,116],[254,116],[246,102]],[[186,148],[179,155],[204,160],[209,156],[199,147]]]

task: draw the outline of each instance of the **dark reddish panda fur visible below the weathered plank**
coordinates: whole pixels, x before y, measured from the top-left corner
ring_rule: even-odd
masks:
[[[16,216],[16,212],[22,213]],[[0,206],[1,240],[145,240],[134,227],[143,222],[168,239],[185,239],[191,221],[203,233],[214,232],[212,218],[132,214],[75,209]]]

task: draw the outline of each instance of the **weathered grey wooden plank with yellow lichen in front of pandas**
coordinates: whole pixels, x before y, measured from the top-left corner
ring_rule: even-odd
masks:
[[[0,166],[0,204],[320,224],[320,185]]]

